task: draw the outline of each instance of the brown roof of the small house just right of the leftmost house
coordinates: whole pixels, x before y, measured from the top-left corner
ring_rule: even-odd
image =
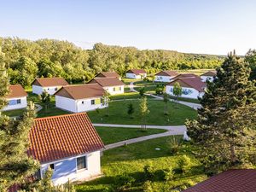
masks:
[[[41,87],[68,85],[67,81],[63,78],[38,78],[38,79],[35,79],[32,84],[38,85]]]

